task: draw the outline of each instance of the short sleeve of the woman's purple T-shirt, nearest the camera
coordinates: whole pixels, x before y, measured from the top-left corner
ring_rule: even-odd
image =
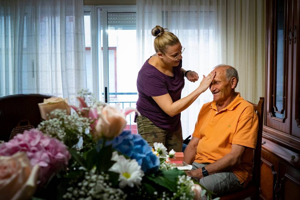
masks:
[[[164,80],[154,75],[148,76],[144,81],[144,93],[149,97],[161,96],[169,93]]]

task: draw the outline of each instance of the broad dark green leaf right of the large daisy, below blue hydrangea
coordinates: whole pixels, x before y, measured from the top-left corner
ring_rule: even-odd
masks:
[[[185,173],[181,170],[172,169],[168,171],[163,170],[158,173],[148,175],[146,178],[160,186],[169,189],[171,192],[176,192],[178,176],[183,174]]]

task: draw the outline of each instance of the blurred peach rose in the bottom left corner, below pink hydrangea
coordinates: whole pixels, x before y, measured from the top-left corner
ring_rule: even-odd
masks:
[[[25,152],[0,156],[1,199],[30,199],[35,192],[39,166],[31,167]]]

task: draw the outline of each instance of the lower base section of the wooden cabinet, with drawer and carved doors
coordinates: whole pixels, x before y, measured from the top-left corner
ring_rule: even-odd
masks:
[[[262,143],[261,199],[298,199],[293,197],[300,195],[300,162],[291,158],[300,154],[266,138]]]

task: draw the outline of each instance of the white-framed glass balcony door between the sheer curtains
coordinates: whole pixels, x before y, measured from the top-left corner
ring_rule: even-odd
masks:
[[[99,100],[136,107],[138,75],[136,8],[97,8]],[[99,59],[100,58],[100,59]],[[128,125],[136,133],[134,114]]]

